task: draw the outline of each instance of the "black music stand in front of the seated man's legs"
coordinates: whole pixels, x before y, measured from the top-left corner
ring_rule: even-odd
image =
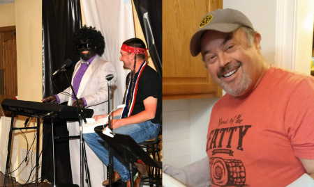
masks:
[[[129,163],[130,181],[133,179],[132,168],[135,162],[144,165],[154,166],[156,168],[162,168],[160,161],[154,161],[147,152],[145,152],[140,145],[138,145],[132,137],[121,133],[113,133],[114,137],[109,137],[103,134],[103,126],[95,127],[94,131],[105,140],[105,142],[112,147],[122,158]],[[134,186],[134,182],[130,183],[131,187]]]

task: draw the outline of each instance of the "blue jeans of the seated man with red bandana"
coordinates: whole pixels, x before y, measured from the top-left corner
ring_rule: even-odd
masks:
[[[114,116],[114,119],[120,119],[120,116]],[[121,133],[131,136],[135,142],[142,143],[145,140],[154,138],[158,134],[158,124],[151,123],[150,120],[138,124],[128,124],[113,130],[114,133]],[[105,141],[97,133],[84,133],[83,138],[87,145],[95,152],[105,165],[109,163],[109,154]],[[128,163],[112,150],[114,170],[117,171],[122,181],[130,180]]]

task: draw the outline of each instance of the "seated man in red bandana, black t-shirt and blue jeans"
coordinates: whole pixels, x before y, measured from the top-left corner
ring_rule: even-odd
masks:
[[[156,137],[158,124],[162,112],[161,79],[158,73],[149,67],[145,61],[146,47],[139,38],[126,40],[121,47],[119,60],[124,63],[124,68],[131,70],[126,79],[126,91],[123,104],[126,106],[112,113],[111,127],[113,133],[131,136],[137,143]],[[94,116],[96,120],[107,115]],[[97,133],[85,133],[85,142],[91,147],[105,165],[109,163],[107,147]],[[121,179],[130,186],[130,172],[128,163],[114,154],[114,175],[112,182]],[[133,169],[134,184],[139,186],[141,174]],[[103,186],[109,180],[103,182]]]

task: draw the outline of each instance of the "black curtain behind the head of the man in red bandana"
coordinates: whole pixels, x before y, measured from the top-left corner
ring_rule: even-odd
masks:
[[[133,0],[137,16],[147,42],[149,54],[160,75],[163,76],[163,38],[162,38],[162,1],[161,0]]]

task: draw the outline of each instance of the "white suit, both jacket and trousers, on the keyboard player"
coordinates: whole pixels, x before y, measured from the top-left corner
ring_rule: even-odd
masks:
[[[77,62],[74,68],[73,78],[81,66],[81,60]],[[105,76],[108,74],[113,74],[114,78],[110,81],[112,83],[112,88],[114,86],[114,81],[117,79],[117,73],[114,69],[112,63],[107,62],[96,56],[91,62],[91,65],[87,68],[87,71],[82,77],[80,87],[77,91],[77,98],[82,98],[87,101],[86,108],[94,109],[94,115],[101,115],[108,113],[108,88],[107,80]],[[113,90],[113,89],[112,89]],[[72,90],[66,88],[64,92],[72,94]],[[72,106],[73,100],[72,97],[61,92],[58,94],[60,102],[68,101],[68,105]],[[69,136],[77,136],[80,134],[80,127],[78,122],[68,122],[68,131]],[[89,163],[89,172],[91,177],[91,186],[100,186],[101,183],[105,180],[107,174],[105,170],[105,165],[102,161],[96,156],[96,154],[91,150],[89,146],[86,147],[87,161]],[[80,140],[73,139],[69,141],[70,148],[70,161],[72,168],[72,179],[73,184],[80,184]],[[85,174],[84,174],[85,178]]]

